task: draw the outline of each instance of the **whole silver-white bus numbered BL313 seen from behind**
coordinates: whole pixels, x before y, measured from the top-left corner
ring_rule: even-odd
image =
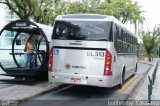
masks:
[[[60,15],[49,58],[49,82],[121,88],[137,69],[137,38],[113,16]]]

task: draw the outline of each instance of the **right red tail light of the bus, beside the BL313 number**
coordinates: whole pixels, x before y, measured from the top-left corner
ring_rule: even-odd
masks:
[[[106,49],[106,59],[104,66],[104,76],[112,76],[112,54]]]

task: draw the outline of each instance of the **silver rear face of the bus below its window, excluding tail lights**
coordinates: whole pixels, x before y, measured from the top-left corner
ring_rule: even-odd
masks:
[[[112,42],[92,41],[81,42],[87,45],[69,46],[73,41],[57,41],[53,51],[53,72],[50,82],[112,87],[113,76],[104,76],[106,49],[110,51]],[[75,41],[74,41],[75,42]],[[55,42],[56,43],[56,42]],[[57,44],[57,43],[56,43]],[[67,48],[67,45],[69,48]],[[102,46],[101,46],[102,45]],[[103,47],[103,48],[99,48]],[[79,49],[80,48],[80,49]],[[113,67],[114,69],[114,67]],[[54,78],[52,78],[54,76]],[[72,80],[80,80],[72,81]]]

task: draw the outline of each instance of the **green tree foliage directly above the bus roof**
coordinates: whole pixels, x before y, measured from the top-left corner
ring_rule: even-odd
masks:
[[[141,17],[141,8],[132,0],[82,0],[71,2],[68,13],[96,13],[113,15],[122,23],[137,21]]]

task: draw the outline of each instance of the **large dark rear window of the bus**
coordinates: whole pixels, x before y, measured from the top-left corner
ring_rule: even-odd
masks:
[[[56,21],[52,39],[109,41],[111,22]]]

